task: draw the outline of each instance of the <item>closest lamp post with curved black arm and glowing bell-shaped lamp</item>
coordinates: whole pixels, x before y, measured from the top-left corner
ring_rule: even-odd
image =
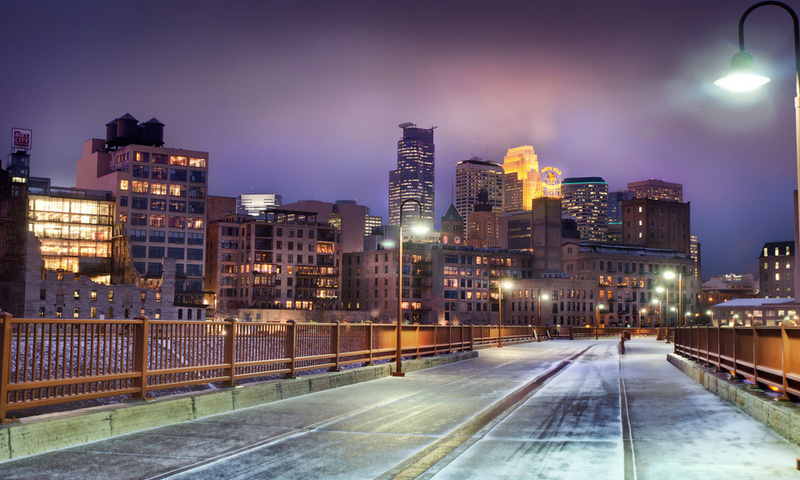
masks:
[[[774,6],[782,8],[792,17],[792,27],[794,30],[794,71],[795,71],[795,99],[794,99],[794,124],[795,124],[795,163],[797,165],[797,185],[800,189],[800,28],[798,28],[797,14],[791,7],[782,2],[759,2],[745,10],[742,18],[739,19],[739,53],[731,59],[731,69],[723,78],[716,82],[716,85],[731,90],[734,92],[746,92],[755,90],[762,85],[769,82],[769,78],[759,75],[755,72],[753,64],[753,57],[744,51],[744,21],[747,16],[757,8],[765,6]],[[795,223],[798,219],[795,218]],[[795,246],[798,245],[800,239],[797,238],[797,230],[795,229]],[[795,282],[800,278],[800,256],[795,256]]]

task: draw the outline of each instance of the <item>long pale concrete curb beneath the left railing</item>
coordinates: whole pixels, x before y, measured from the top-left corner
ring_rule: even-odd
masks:
[[[468,351],[404,360],[403,370],[413,372],[477,356],[478,352]],[[388,377],[394,369],[394,363],[384,363],[236,388],[23,418],[18,423],[0,425],[0,462],[376,380]]]

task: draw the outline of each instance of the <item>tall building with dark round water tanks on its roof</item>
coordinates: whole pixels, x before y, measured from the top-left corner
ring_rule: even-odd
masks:
[[[203,307],[208,152],[163,147],[163,124],[130,114],[109,122],[106,140],[83,145],[78,188],[108,190],[115,199],[114,270],[161,277],[175,260],[178,280],[169,301]],[[118,273],[124,277],[124,274]],[[112,278],[123,283],[129,278]]]

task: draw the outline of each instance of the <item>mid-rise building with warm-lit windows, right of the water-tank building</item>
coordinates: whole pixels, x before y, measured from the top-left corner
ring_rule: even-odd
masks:
[[[206,290],[215,315],[339,308],[340,235],[316,212],[229,215],[209,226]]]

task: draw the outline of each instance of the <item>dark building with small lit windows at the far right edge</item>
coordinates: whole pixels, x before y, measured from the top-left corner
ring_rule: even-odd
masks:
[[[760,296],[794,298],[794,241],[767,242],[758,256]]]

